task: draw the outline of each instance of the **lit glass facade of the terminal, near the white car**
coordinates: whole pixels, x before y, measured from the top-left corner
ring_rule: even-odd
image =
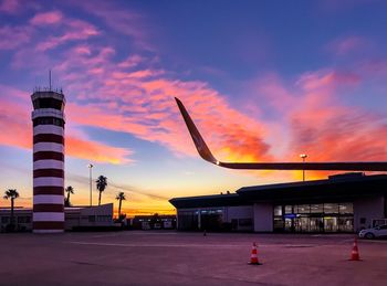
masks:
[[[353,232],[352,202],[274,205],[275,232]]]

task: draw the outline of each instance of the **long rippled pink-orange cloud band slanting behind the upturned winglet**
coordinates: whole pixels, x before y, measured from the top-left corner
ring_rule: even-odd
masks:
[[[135,66],[130,70],[115,63],[112,54],[104,53],[103,49],[92,49],[92,57],[72,53],[73,56],[61,64],[65,81],[71,81],[67,85],[71,93],[82,91],[82,99],[94,102],[85,106],[70,103],[69,120],[129,133],[159,142],[177,155],[196,155],[194,146],[187,145],[189,137],[174,100],[174,96],[178,96],[192,112],[220,157],[230,160],[270,158],[269,146],[261,138],[264,125],[230,107],[222,95],[206,83],[169,80],[159,70],[133,71]]]

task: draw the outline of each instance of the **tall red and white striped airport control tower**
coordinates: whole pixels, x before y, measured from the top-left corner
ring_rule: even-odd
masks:
[[[64,231],[64,105],[62,92],[31,95],[33,121],[33,232]]]

